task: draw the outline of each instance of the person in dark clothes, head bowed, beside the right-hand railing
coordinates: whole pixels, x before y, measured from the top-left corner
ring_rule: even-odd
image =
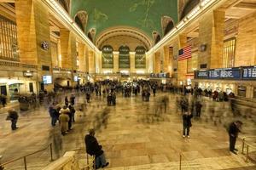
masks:
[[[235,148],[236,138],[238,136],[238,133],[241,132],[240,131],[241,125],[242,125],[241,121],[236,121],[236,122],[231,122],[229,127],[230,151],[236,155],[237,155],[236,153],[237,149]]]

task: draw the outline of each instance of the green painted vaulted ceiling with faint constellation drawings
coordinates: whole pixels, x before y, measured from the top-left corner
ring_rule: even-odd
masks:
[[[86,32],[96,28],[96,36],[113,26],[136,27],[148,37],[158,31],[162,36],[162,16],[177,23],[177,0],[73,0],[72,16],[80,10],[89,15]]]

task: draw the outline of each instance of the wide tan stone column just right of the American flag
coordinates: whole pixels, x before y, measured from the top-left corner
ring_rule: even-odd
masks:
[[[207,64],[207,69],[223,67],[224,16],[222,10],[208,11],[199,21],[199,44],[206,51],[199,53],[198,68]]]

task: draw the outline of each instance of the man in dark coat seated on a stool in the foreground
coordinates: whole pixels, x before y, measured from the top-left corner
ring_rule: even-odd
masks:
[[[89,134],[85,135],[84,142],[86,152],[90,156],[96,156],[96,169],[100,167],[107,167],[109,163],[106,162],[104,151],[102,150],[102,145],[98,144],[97,139],[94,137],[94,135],[94,129],[90,129]]]

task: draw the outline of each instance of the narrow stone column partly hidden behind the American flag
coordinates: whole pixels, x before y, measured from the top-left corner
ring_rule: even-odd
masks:
[[[180,34],[178,36],[178,50],[181,49],[181,48],[184,48],[186,47],[187,45],[187,36],[184,35],[184,34]],[[178,50],[177,50],[177,60],[178,60]],[[187,75],[187,59],[183,59],[181,61],[177,61],[177,82],[179,84],[179,82],[183,82],[183,85],[184,83],[186,82],[186,75]]]

